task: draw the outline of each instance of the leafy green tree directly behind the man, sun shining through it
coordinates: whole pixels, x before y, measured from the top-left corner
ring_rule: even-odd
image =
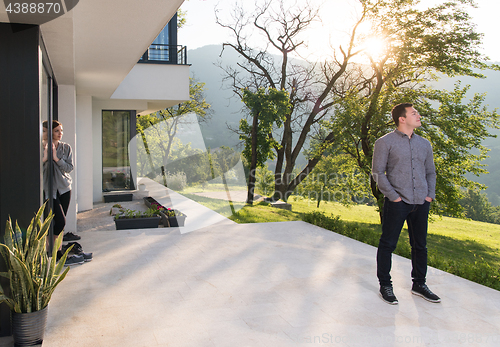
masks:
[[[458,204],[462,189],[479,186],[465,174],[486,172],[481,161],[487,149],[481,141],[492,136],[489,128],[498,128],[499,117],[482,105],[484,95],[466,100],[468,86],[458,83],[452,91],[439,91],[428,85],[438,73],[481,77],[474,68],[498,67],[487,65],[487,58],[477,51],[481,35],[474,31],[462,2],[422,11],[412,7],[413,3],[394,2],[384,16],[368,12],[374,34],[387,42],[386,51],[381,57],[369,57],[370,69],[363,72],[360,83],[338,90],[342,98],[325,125],[337,134],[336,145],[368,176],[375,140],[395,127],[391,108],[401,102],[414,103],[424,115],[416,132],[427,137],[434,148],[437,191],[433,212],[463,216]],[[478,153],[473,154],[472,149]],[[372,177],[370,186],[380,208],[383,195]]]

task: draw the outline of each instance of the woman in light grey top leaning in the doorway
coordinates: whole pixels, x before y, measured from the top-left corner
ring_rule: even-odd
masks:
[[[62,142],[63,127],[61,122],[52,121],[52,151],[48,150],[48,122],[43,122],[43,186],[45,198],[53,199],[54,213],[54,239],[64,230],[66,226],[66,214],[68,213],[69,203],[71,201],[71,183],[72,179],[69,175],[73,171],[73,153],[71,146]],[[54,162],[54,171],[52,179],[52,192],[49,192],[49,175],[48,161],[52,157]],[[80,236],[73,233],[66,233],[64,241],[79,240]],[[82,263],[83,257],[69,257],[66,261],[67,265],[72,263]]]

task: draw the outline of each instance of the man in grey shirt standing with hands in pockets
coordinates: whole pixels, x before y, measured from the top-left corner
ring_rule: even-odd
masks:
[[[392,252],[396,249],[406,220],[411,246],[412,293],[431,302],[441,299],[425,284],[427,274],[427,221],[435,198],[436,170],[432,147],[414,130],[420,114],[410,103],[392,109],[397,129],[375,142],[372,174],[384,194],[382,236],[377,251],[377,277],[380,296],[392,305],[398,303],[391,282]]]

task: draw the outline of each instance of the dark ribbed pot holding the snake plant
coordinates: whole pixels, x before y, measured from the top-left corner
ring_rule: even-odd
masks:
[[[31,313],[12,312],[14,346],[36,346],[43,341],[47,325],[48,306]]]

